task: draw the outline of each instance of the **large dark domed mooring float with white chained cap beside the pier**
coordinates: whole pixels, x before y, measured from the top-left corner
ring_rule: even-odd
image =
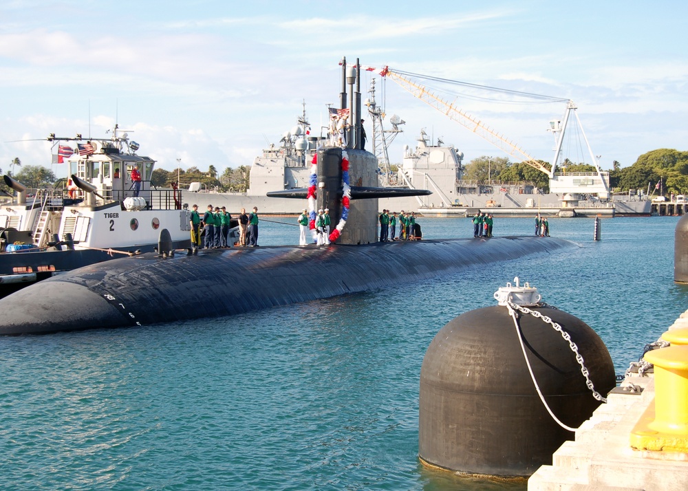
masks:
[[[599,336],[582,320],[540,303],[528,283],[515,283],[495,293],[499,306],[449,321],[427,349],[418,437],[424,463],[528,477],[552,463],[552,453],[572,439],[570,429],[590,418],[616,386],[612,358]],[[595,393],[562,333],[582,356]]]

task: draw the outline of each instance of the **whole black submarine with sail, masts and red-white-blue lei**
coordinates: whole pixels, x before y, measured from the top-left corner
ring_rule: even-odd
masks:
[[[346,107],[345,94],[341,97]],[[360,121],[360,97],[355,105],[351,99],[353,120]],[[158,252],[87,265],[0,299],[0,334],[230,316],[427,281],[475,265],[553,254],[575,246],[552,237],[378,242],[377,198],[429,191],[376,187],[377,158],[361,149],[360,126],[352,125],[349,132],[350,144],[316,151],[308,189],[290,190],[292,197],[308,199],[311,228],[315,207],[330,209],[336,224],[330,245],[179,254],[163,230]]]

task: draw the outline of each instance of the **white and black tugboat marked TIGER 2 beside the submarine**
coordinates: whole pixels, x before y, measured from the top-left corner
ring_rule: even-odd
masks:
[[[191,246],[188,205],[176,183],[154,189],[155,161],[136,155],[139,145],[119,133],[115,127],[110,139],[47,138],[68,166],[66,189],[29,197],[23,184],[3,176],[17,197],[0,208],[0,297],[85,265]]]

